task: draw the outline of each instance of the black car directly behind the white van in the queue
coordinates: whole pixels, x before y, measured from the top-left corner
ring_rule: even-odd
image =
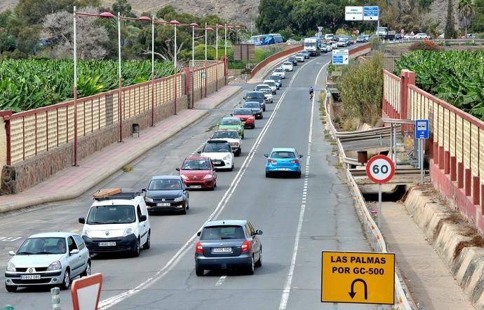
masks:
[[[154,176],[149,181],[144,202],[149,213],[176,211],[185,214],[189,209],[188,188],[181,176]]]

